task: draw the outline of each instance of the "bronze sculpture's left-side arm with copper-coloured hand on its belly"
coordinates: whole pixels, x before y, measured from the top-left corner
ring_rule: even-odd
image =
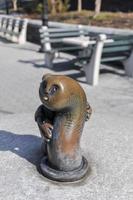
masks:
[[[40,105],[35,112],[35,121],[38,124],[43,139],[49,142],[52,137],[53,125],[48,117],[48,110],[44,105]]]

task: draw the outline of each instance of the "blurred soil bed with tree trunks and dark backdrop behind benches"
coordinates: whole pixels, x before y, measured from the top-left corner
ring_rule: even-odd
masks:
[[[46,1],[50,21],[133,29],[133,0]],[[0,13],[42,19],[43,3],[44,0],[0,0]]]

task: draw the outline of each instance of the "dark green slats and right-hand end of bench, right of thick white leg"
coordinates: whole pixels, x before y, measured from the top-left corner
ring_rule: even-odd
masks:
[[[104,45],[101,62],[119,61],[125,73],[133,77],[133,35],[113,36],[113,39],[113,43]]]

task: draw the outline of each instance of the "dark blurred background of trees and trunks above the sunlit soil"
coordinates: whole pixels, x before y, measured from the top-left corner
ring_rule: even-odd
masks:
[[[47,0],[49,13],[93,10],[132,12],[133,0]],[[41,13],[43,0],[0,0],[0,10],[9,7],[11,12]]]

